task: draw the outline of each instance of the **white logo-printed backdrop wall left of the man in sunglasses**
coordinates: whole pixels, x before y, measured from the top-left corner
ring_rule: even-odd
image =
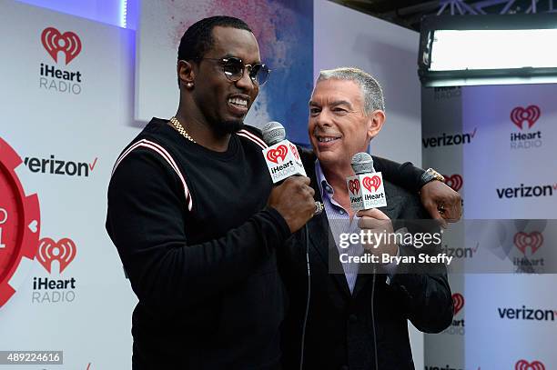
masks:
[[[112,165],[137,135],[129,125],[133,33],[11,1],[0,7],[0,32],[7,35],[0,38],[7,56],[0,62],[0,135],[28,164],[39,163],[30,165],[33,171],[20,165],[17,173],[27,192],[39,196],[41,237],[69,238],[76,249],[62,272],[57,262],[49,273],[35,259],[20,290],[0,307],[0,349],[63,350],[67,369],[130,368],[136,298],[104,220]],[[70,63],[62,52],[57,62],[46,52],[41,35],[47,27],[77,35],[82,47]],[[77,75],[73,82],[48,76],[41,85],[41,64],[78,72],[81,82]],[[62,82],[70,93],[60,92]],[[65,174],[52,173],[52,161],[63,162]],[[71,175],[72,163],[83,164],[81,175]],[[74,287],[37,289],[35,279],[74,279]],[[73,299],[54,302],[60,296]]]

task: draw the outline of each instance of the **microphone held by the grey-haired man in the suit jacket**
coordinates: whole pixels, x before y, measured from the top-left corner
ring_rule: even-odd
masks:
[[[360,152],[352,156],[352,169],[356,173],[346,179],[350,207],[358,212],[387,205],[383,175],[375,172],[371,155]]]

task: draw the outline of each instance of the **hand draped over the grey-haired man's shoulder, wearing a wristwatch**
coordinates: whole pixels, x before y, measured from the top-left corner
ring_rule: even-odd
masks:
[[[431,218],[439,220],[441,225],[457,222],[462,215],[462,199],[445,183],[433,180],[420,189],[421,204],[430,213]]]

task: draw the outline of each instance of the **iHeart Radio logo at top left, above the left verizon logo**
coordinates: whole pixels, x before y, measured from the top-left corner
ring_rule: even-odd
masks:
[[[64,65],[69,65],[82,49],[81,39],[75,32],[62,33],[52,26],[46,27],[41,33],[41,44],[56,65],[62,64],[61,59],[64,59]],[[56,65],[41,63],[39,88],[57,93],[81,94],[81,72],[61,69]]]

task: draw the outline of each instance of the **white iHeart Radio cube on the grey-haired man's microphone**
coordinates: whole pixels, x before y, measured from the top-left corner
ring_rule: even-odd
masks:
[[[379,208],[387,205],[383,175],[380,172],[348,177],[350,207],[354,211]]]

